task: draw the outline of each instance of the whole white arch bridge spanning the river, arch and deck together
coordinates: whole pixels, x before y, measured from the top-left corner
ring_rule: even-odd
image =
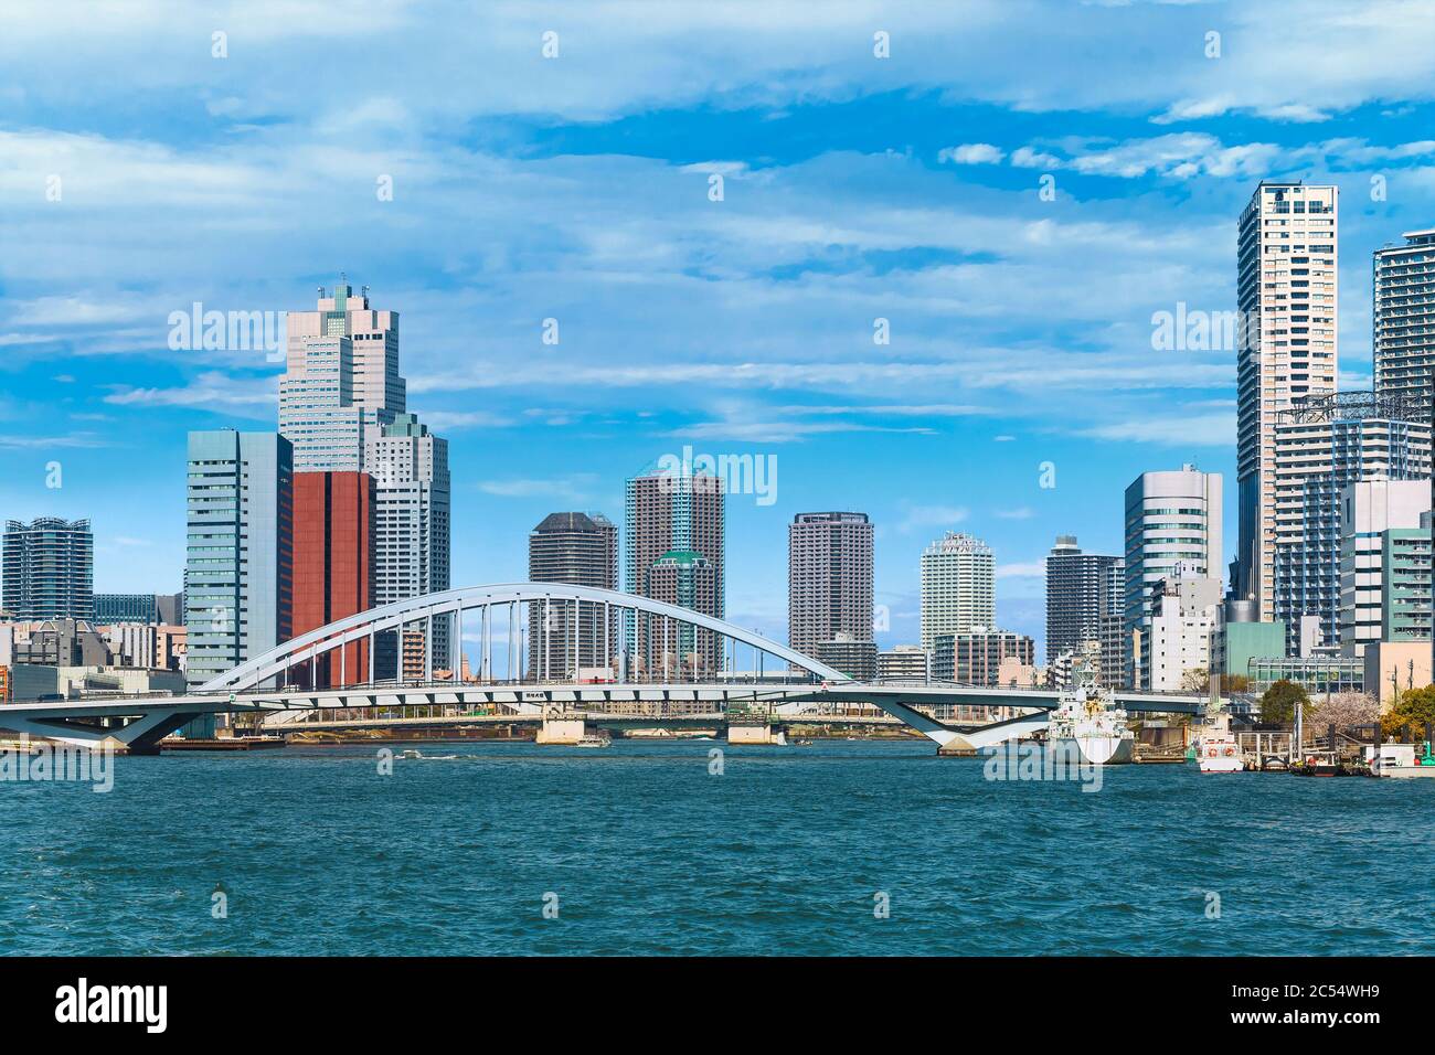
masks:
[[[390,672],[380,672],[376,659],[386,636],[396,665],[392,677],[380,677]],[[456,676],[462,669],[436,667],[453,640],[479,646],[479,667],[469,680]],[[745,656],[752,660],[748,667]],[[604,662],[585,669],[584,660],[593,657]],[[1131,712],[1195,713],[1205,703],[1201,696],[1165,693],[1116,693],[1116,700]],[[857,682],[690,609],[594,587],[508,583],[446,590],[340,619],[184,696],[0,706],[0,729],[146,752],[212,713],[258,712],[265,726],[296,729],[317,712],[416,706],[484,709],[508,722],[616,725],[640,723],[653,713],[726,722],[740,711],[781,725],[834,721],[835,713],[868,703],[938,746],[980,748],[1045,728],[1056,702],[1053,689]],[[1007,708],[1016,716],[959,723],[953,719],[960,708]]]

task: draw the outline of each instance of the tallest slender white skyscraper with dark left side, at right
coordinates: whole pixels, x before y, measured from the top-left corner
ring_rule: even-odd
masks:
[[[1237,255],[1240,541],[1231,594],[1274,614],[1276,419],[1336,390],[1339,188],[1261,182],[1241,212]]]

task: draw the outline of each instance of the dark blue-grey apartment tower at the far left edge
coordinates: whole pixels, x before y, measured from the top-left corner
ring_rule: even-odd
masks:
[[[6,521],[4,600],[14,619],[95,617],[95,537],[88,520]]]

